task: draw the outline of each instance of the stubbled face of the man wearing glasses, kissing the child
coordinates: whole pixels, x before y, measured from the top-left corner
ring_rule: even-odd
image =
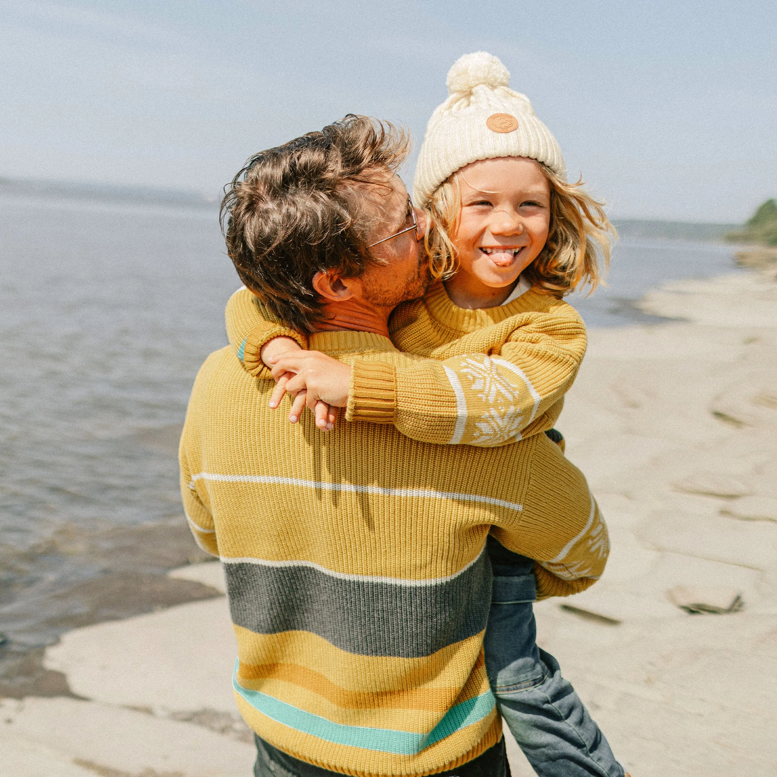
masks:
[[[382,240],[413,224],[402,179],[389,172],[386,183],[390,191],[381,187],[370,195],[378,213],[371,242]],[[423,212],[416,211],[416,216],[423,218]],[[423,297],[431,283],[431,275],[423,242],[416,240],[414,230],[382,242],[370,250],[382,263],[368,267],[359,279],[366,301],[372,305],[393,308],[408,299]]]

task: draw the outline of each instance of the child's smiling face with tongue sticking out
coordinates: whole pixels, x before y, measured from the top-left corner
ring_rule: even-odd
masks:
[[[453,242],[465,291],[514,284],[542,251],[550,224],[550,184],[534,159],[482,159],[457,173],[462,212]]]

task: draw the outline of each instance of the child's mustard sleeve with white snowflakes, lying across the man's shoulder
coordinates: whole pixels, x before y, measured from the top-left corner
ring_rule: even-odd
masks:
[[[568,305],[565,306],[569,308]],[[571,310],[572,308],[570,308]],[[354,360],[347,419],[395,424],[407,437],[437,444],[493,448],[550,429],[559,417],[586,349],[577,314],[536,316],[505,329],[490,353],[444,361],[427,358],[374,375],[368,360]],[[391,395],[385,395],[390,386]],[[383,392],[385,412],[375,414]]]

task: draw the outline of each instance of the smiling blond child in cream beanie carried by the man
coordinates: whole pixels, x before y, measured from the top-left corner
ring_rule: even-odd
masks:
[[[249,291],[233,295],[230,341],[254,375],[269,377],[264,363],[272,365],[279,383],[271,405],[284,391],[297,394],[291,420],[305,402],[319,402],[316,423],[331,428],[327,402],[347,406],[347,420],[394,423],[425,442],[496,446],[542,432],[560,441],[552,426],[586,347],[580,316],[560,297],[596,286],[611,226],[601,204],[566,183],[556,139],[509,78],[496,57],[462,57],[427,127],[414,192],[423,211],[413,218],[442,282],[400,305],[391,321],[395,346],[427,358],[397,368],[355,357],[349,368],[298,350],[304,336],[278,326]],[[312,371],[325,388],[305,397]],[[606,555],[605,537],[603,527],[591,531],[589,549],[599,543]],[[535,643],[537,588],[566,595],[591,580],[569,559],[535,563],[498,539],[493,531],[484,651],[500,712],[538,774],[622,777],[556,660]]]

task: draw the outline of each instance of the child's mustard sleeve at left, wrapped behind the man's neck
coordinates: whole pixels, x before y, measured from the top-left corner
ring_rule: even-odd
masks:
[[[245,286],[229,298],[226,323],[232,350],[246,370],[257,378],[272,379],[270,371],[261,360],[260,351],[262,346],[274,337],[291,337],[301,348],[308,347],[305,335],[284,326]]]

